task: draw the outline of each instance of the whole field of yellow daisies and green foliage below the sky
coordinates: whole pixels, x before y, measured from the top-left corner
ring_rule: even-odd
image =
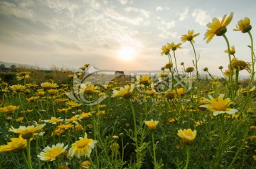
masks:
[[[221,79],[207,67],[198,73],[199,33],[189,30],[181,41],[191,43],[194,67],[177,65],[182,43],[168,43],[161,55],[169,62],[157,74],[88,74],[85,64],[63,70],[63,82],[38,82],[32,70],[17,72],[14,84],[1,80],[1,168],[255,168],[252,26],[244,18],[234,29],[249,35],[245,62],[225,36],[232,18],[213,18],[205,34],[207,43],[215,35],[227,42]],[[251,75],[246,86],[240,71]]]

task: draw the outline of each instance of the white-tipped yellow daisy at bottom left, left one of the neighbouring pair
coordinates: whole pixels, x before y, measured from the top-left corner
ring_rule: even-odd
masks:
[[[56,160],[56,158],[68,148],[68,145],[64,147],[64,143],[57,143],[52,147],[47,146],[39,153],[38,158],[41,160]]]

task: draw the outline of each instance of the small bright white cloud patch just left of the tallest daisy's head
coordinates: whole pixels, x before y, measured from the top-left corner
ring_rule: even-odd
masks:
[[[192,16],[201,26],[206,26],[208,21],[210,21],[210,15],[208,14],[207,10],[203,11],[203,9],[195,9]]]

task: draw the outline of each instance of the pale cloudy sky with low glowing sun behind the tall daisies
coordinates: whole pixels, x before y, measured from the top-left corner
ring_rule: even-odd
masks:
[[[188,30],[194,38],[198,68],[221,75],[228,68],[227,43],[215,36],[203,40],[212,18],[234,12],[225,35],[235,56],[250,62],[250,37],[233,31],[240,19],[256,26],[255,0],[0,0],[0,60],[38,67],[78,70],[89,63],[102,70],[160,70],[169,59],[161,55],[166,43],[181,43]],[[176,50],[178,69],[193,66],[193,48],[186,42]],[[241,75],[248,75],[246,70]]]

